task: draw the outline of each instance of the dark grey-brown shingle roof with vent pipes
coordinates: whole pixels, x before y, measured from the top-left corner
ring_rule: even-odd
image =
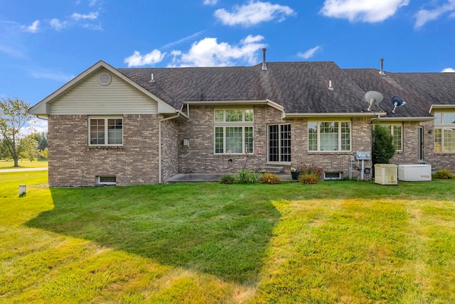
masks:
[[[183,102],[265,100],[286,113],[367,112],[365,92],[384,101],[375,111],[388,117],[431,116],[432,104],[455,104],[455,73],[390,73],[342,70],[333,62],[267,63],[252,67],[121,68],[119,72],[176,109]],[[151,74],[154,82],[150,82]],[[449,75],[452,74],[452,75]],[[328,89],[331,80],[333,90]],[[392,114],[392,97],[407,102]]]

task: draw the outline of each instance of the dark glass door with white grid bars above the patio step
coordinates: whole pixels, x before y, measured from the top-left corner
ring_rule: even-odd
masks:
[[[269,161],[291,161],[291,125],[269,126]]]

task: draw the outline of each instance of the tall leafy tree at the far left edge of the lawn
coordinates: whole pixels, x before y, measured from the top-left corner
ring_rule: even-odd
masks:
[[[25,136],[21,134],[21,129],[28,122],[33,122],[33,116],[28,114],[29,104],[18,99],[1,99],[0,102],[0,136],[6,151],[14,160],[14,167],[18,166],[21,148],[20,141]]]

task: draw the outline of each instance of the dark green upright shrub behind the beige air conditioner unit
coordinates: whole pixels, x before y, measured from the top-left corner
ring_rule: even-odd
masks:
[[[393,137],[390,129],[386,126],[376,124],[373,128],[373,151],[372,161],[375,163],[389,163],[390,158],[395,154]]]

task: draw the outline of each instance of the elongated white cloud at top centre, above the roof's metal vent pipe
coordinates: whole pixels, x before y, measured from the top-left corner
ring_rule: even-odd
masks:
[[[242,25],[254,26],[255,24],[272,21],[284,21],[287,16],[296,13],[289,6],[271,4],[270,2],[250,1],[246,5],[234,6],[232,13],[225,9],[217,9],[215,17],[228,26]]]

